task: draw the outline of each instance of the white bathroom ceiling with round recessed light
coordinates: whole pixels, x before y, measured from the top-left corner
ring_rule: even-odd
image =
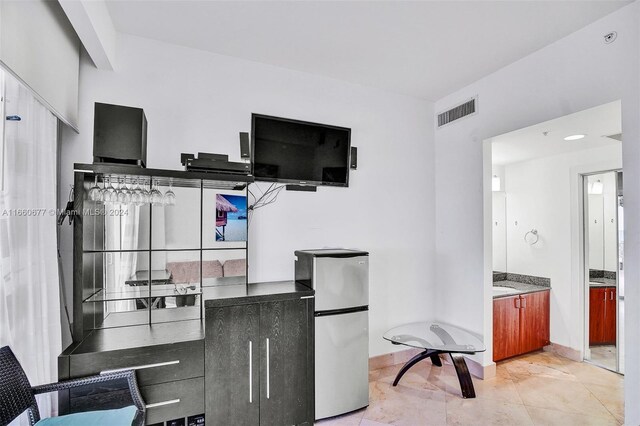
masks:
[[[547,132],[545,136],[544,132]],[[492,138],[492,163],[498,166],[572,151],[620,144],[606,136],[622,132],[620,101],[566,115]],[[585,138],[565,141],[570,135]]]

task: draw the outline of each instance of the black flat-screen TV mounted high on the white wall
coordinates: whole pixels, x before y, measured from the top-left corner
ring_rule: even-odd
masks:
[[[252,114],[256,180],[349,186],[351,129]]]

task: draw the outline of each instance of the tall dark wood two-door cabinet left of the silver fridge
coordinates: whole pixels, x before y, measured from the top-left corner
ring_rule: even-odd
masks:
[[[313,299],[206,309],[206,418],[313,424]]]

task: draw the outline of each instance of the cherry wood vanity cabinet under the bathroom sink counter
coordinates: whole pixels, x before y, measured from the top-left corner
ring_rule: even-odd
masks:
[[[549,290],[493,300],[493,360],[549,344]]]

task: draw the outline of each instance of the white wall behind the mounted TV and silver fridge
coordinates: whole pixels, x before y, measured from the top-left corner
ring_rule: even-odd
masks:
[[[352,128],[359,166],[348,189],[282,192],[277,203],[256,212],[250,280],[293,279],[296,249],[370,251],[372,356],[397,349],[382,340],[386,329],[433,313],[432,104],[122,36],[116,72],[97,70],[86,55],[81,60],[80,134],[63,134],[61,191],[68,191],[74,162],[92,161],[95,101],[144,108],[150,168],[180,169],[181,152],[228,153],[238,161],[238,132],[250,130],[252,112]],[[71,277],[71,233],[63,231],[65,276]]]

